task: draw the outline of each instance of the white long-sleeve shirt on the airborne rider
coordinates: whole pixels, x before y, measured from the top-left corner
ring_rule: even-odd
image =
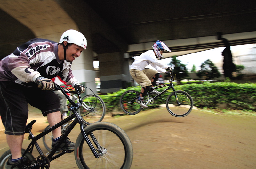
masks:
[[[168,68],[167,65],[164,65],[156,59],[155,53],[153,50],[148,50],[147,52],[142,53],[139,57],[137,57],[132,63],[130,69],[135,70],[144,70],[144,68],[148,65],[154,67],[160,73],[165,73]]]

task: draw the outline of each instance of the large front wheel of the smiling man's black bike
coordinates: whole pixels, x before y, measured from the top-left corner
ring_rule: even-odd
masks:
[[[133,158],[132,143],[124,130],[108,122],[93,123],[86,126],[84,130],[92,144],[90,133],[93,133],[100,146],[104,148],[105,153],[99,158],[95,158],[82,133],[80,133],[76,140],[74,153],[79,169],[128,169],[131,167]]]

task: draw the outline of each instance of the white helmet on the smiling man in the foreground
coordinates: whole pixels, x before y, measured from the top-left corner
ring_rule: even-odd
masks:
[[[74,29],[69,29],[62,34],[59,43],[62,43],[63,41],[66,41],[69,44],[76,44],[84,49],[87,47],[87,40],[84,35]]]

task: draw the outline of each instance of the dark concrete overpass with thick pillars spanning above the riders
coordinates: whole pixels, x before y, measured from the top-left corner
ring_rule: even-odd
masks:
[[[102,92],[114,92],[131,80],[128,58],[152,49],[156,40],[173,51],[164,57],[223,46],[216,32],[231,45],[256,43],[255,20],[254,0],[1,0],[0,57],[34,37],[58,42],[76,29],[88,47],[72,63],[73,73],[95,92],[92,62],[98,60]]]

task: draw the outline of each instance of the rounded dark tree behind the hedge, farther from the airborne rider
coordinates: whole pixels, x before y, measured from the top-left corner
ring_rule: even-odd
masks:
[[[220,72],[218,71],[217,67],[212,63],[210,59],[204,61],[201,64],[201,70],[197,73],[198,77],[206,77],[205,79],[210,80],[214,78],[220,77]]]

